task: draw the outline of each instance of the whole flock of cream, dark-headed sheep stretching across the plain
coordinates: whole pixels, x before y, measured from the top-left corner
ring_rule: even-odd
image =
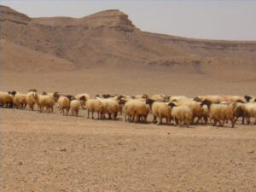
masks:
[[[28,106],[34,110],[38,105],[38,112],[53,113],[55,103],[62,115],[67,115],[71,110],[72,115],[78,116],[79,109],[88,111],[87,118],[94,119],[117,119],[118,114],[124,113],[125,121],[147,122],[149,113],[154,116],[153,123],[163,124],[163,119],[167,125],[198,124],[200,121],[207,124],[208,120],[213,120],[213,125],[224,126],[230,120],[232,127],[235,126],[238,118],[241,123],[250,124],[250,119],[254,118],[256,125],[256,99],[254,96],[164,96],[164,95],[96,95],[94,99],[87,93],[77,96],[65,96],[60,92],[47,93],[41,95],[37,90],[31,89],[27,94],[16,91],[0,92],[1,108],[26,108]]]

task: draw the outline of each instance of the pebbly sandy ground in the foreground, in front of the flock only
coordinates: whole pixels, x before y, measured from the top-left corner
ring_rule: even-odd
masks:
[[[255,125],[187,129],[1,109],[1,133],[1,191],[256,190]]]

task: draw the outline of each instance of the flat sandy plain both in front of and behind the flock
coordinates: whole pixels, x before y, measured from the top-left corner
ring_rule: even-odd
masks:
[[[256,95],[252,77],[125,70],[2,73],[1,90],[29,88],[91,95]],[[84,110],[79,117],[64,117],[57,108],[0,113],[1,191],[256,191],[256,125],[187,129],[126,123],[122,116],[87,119]]]

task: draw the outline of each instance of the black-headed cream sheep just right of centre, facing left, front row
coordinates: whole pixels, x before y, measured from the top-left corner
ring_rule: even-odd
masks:
[[[151,112],[154,115],[153,123],[156,123],[156,119],[159,118],[158,124],[162,124],[162,119],[166,118],[166,124],[171,120],[171,108],[165,102],[155,102],[153,99],[147,99],[146,104],[151,108]]]

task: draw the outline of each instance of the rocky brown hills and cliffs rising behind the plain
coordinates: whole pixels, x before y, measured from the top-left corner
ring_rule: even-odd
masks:
[[[83,18],[29,18],[4,6],[0,11],[4,44],[65,60],[75,68],[173,69],[179,66],[187,71],[207,73],[212,67],[225,64],[255,67],[256,42],[200,40],[142,32],[128,15],[117,9]],[[5,46],[1,49],[3,53],[10,50]],[[1,61],[5,65],[10,62],[7,57],[1,57]]]

